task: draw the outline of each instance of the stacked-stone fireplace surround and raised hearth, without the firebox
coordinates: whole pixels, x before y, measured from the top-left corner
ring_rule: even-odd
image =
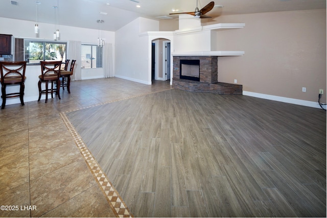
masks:
[[[180,79],[180,60],[200,60],[200,81]],[[174,56],[173,88],[217,94],[242,94],[238,84],[218,82],[218,56]]]

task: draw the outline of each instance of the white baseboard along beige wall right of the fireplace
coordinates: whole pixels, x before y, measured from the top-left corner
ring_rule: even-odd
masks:
[[[262,94],[262,93],[256,93],[256,92],[250,92],[250,91],[243,91],[243,95],[252,96],[252,97],[260,98],[260,99],[277,101],[277,102],[284,102],[284,103],[289,103],[289,104],[294,104],[294,105],[302,105],[302,106],[307,106],[307,107],[312,107],[312,108],[321,108],[320,105],[318,104],[318,102],[310,102],[310,101],[299,100],[299,99],[291,99],[291,98],[285,98],[285,97],[276,96],[276,95]]]

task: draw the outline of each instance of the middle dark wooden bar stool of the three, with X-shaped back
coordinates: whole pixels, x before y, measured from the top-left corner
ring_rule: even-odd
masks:
[[[60,89],[60,67],[61,61],[40,61],[41,64],[41,75],[39,76],[39,99],[41,99],[41,94],[45,94],[45,103],[48,102],[48,93],[51,93],[51,98],[53,98],[53,93],[58,95],[60,99],[59,89]],[[45,89],[41,89],[42,82],[45,82]],[[51,88],[49,89],[49,82],[51,82]],[[54,87],[54,82],[56,82],[56,87]]]

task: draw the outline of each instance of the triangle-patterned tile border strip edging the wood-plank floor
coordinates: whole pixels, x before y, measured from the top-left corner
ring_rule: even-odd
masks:
[[[143,96],[143,95],[166,91],[166,90],[169,90],[169,89],[134,95],[134,96],[130,96],[130,97],[124,98],[124,99],[114,100],[111,102],[101,103],[101,104],[97,104],[97,105],[92,105],[92,106],[83,107],[83,108],[76,109],[76,110],[65,111],[65,112],[59,113],[61,118],[63,119],[63,122],[65,123],[68,131],[74,137],[77,147],[80,149],[80,152],[83,155],[91,173],[94,175],[94,177],[96,178],[96,181],[100,185],[101,190],[105,194],[107,201],[109,202],[110,207],[113,209],[113,212],[115,213],[116,217],[133,217],[133,215],[130,213],[128,207],[126,206],[122,197],[119,195],[118,191],[113,187],[112,183],[109,181],[106,174],[103,172],[102,168],[100,167],[100,165],[97,162],[97,160],[95,159],[95,157],[92,155],[92,153],[88,150],[88,148],[84,144],[82,138],[77,133],[74,126],[69,121],[68,117],[66,116],[66,113],[85,109],[85,108],[105,105],[105,104],[109,104],[112,102],[118,102],[118,101],[127,100],[127,99],[131,99],[131,98],[136,98],[138,96]]]

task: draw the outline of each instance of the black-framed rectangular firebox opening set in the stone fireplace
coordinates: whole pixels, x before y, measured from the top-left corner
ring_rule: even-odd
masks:
[[[200,60],[180,60],[179,78],[200,81]]]

